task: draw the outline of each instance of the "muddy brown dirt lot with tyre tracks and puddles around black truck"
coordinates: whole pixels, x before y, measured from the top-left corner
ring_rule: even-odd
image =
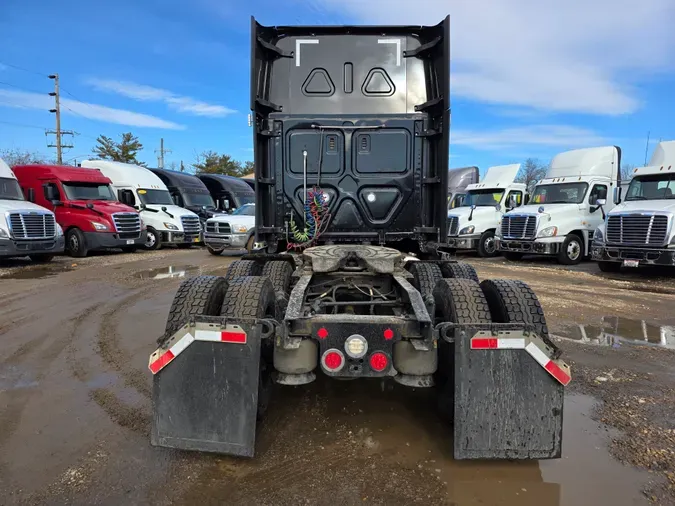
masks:
[[[468,260],[529,283],[563,358],[563,458],[457,462],[428,391],[279,387],[251,460],[149,444],[149,354],[200,249],[0,263],[0,504],[675,504],[675,274]],[[672,327],[671,327],[672,326]]]

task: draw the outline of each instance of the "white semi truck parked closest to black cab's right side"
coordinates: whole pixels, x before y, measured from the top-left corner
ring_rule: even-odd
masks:
[[[480,183],[466,187],[459,207],[448,212],[448,246],[475,250],[481,257],[499,254],[495,233],[505,212],[526,201],[526,188],[515,183],[520,164],[490,167]]]

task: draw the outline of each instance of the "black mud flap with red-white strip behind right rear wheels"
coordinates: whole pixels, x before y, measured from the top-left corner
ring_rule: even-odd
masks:
[[[542,363],[544,354],[551,357],[553,350],[534,334],[471,328],[457,334],[455,459],[559,458],[563,383],[569,381],[569,368],[551,360],[563,368],[560,374],[568,374],[556,379],[550,364]],[[472,339],[480,340],[481,349],[472,349]]]

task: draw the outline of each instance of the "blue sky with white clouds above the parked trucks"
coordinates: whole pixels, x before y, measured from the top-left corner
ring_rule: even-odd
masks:
[[[451,166],[616,144],[641,165],[647,132],[675,139],[675,2],[646,0],[0,0],[0,149],[53,157],[52,81],[64,158],[99,134],[138,135],[140,159],[204,150],[251,159],[249,26],[436,24],[451,15]],[[15,68],[21,67],[25,70]],[[27,70],[27,71],[26,71]],[[66,138],[69,140],[69,138]],[[650,145],[650,154],[653,144]]]

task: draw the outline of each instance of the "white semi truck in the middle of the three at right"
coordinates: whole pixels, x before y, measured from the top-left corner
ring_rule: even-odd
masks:
[[[529,204],[502,219],[496,237],[499,251],[509,260],[553,255],[561,264],[578,264],[590,255],[593,232],[614,207],[607,196],[619,187],[620,174],[617,146],[556,155]]]

